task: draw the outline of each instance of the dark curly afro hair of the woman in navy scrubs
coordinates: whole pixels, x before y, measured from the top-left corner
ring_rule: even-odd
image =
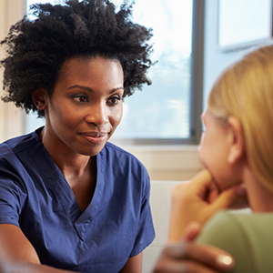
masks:
[[[36,109],[32,93],[44,87],[51,96],[64,62],[78,56],[118,59],[125,76],[124,96],[151,84],[147,69],[153,65],[152,46],[147,42],[152,29],[131,21],[132,4],[116,12],[107,0],[64,0],[64,5],[36,4],[31,10],[36,19],[25,16],[1,42],[7,53],[1,61],[5,102],[45,116]]]

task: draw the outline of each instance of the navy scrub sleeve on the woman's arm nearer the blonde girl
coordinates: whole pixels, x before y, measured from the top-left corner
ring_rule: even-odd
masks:
[[[143,194],[140,218],[137,228],[136,242],[130,257],[134,257],[142,252],[155,238],[155,229],[149,204],[150,197],[150,179],[147,170],[144,168],[142,173]]]

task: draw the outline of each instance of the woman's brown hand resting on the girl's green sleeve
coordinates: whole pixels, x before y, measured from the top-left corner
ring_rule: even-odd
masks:
[[[186,227],[181,241],[168,244],[153,273],[218,273],[232,269],[234,258],[227,252],[193,242],[200,228],[198,223],[191,223]]]

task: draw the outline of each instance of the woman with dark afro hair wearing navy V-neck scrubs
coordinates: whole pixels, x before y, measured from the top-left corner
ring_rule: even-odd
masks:
[[[151,31],[105,0],[33,13],[2,41],[5,102],[45,126],[0,146],[0,271],[141,272],[149,177],[107,141],[123,97],[149,84]]]

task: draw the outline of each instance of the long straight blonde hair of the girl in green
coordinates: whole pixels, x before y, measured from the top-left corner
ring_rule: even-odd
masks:
[[[238,118],[248,164],[273,191],[273,45],[229,66],[211,89],[208,109],[221,119]]]

